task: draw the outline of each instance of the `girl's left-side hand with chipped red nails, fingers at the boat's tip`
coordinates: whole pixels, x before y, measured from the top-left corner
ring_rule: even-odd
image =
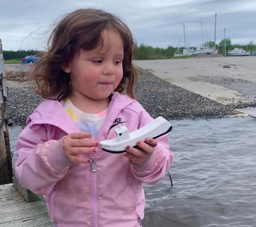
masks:
[[[70,162],[89,163],[90,158],[80,157],[79,154],[93,154],[99,143],[91,138],[89,132],[75,132],[64,137],[62,147]]]

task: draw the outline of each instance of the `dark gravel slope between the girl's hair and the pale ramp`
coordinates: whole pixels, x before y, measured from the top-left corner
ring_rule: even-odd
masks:
[[[140,104],[153,118],[167,120],[224,117],[238,114],[234,106],[224,105],[170,84],[150,72],[142,71],[136,88]]]

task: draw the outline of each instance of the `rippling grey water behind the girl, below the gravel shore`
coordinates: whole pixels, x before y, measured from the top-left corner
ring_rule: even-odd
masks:
[[[167,175],[157,185],[145,185],[143,225],[255,227],[256,119],[171,123],[174,186]],[[12,149],[20,131],[10,128]]]

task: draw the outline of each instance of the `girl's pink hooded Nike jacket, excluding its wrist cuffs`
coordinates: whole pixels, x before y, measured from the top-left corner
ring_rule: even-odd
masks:
[[[115,122],[132,132],[152,120],[137,101],[115,92],[96,140],[115,138]],[[93,165],[71,163],[63,153],[63,137],[77,131],[63,101],[42,102],[17,141],[17,180],[44,196],[55,227],[139,227],[145,208],[143,183],[156,184],[172,163],[168,135],[157,139],[155,152],[143,164],[98,147]]]

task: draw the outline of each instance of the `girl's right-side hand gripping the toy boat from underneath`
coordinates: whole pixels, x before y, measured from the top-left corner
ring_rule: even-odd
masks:
[[[131,160],[134,164],[142,164],[146,162],[151,154],[155,151],[154,147],[157,146],[157,140],[147,138],[145,142],[139,140],[136,148],[127,145],[123,155]]]

